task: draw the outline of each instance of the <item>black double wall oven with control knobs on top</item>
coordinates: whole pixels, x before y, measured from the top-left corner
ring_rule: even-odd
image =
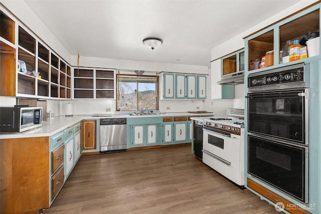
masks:
[[[308,64],[248,75],[248,173],[308,202]]]

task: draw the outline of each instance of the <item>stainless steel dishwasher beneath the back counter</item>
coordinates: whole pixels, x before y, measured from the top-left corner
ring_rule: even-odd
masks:
[[[100,153],[127,149],[126,118],[100,119]]]

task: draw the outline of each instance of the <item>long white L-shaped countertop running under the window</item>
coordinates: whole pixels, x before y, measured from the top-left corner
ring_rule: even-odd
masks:
[[[24,131],[21,133],[8,133],[8,134],[0,134],[0,139],[9,139],[9,138],[23,138],[23,137],[46,137],[52,136],[65,128],[71,127],[76,123],[84,119],[100,119],[100,118],[119,118],[119,117],[126,117],[126,118],[141,118],[141,117],[168,117],[168,116],[202,116],[202,115],[209,115],[209,113],[201,113],[201,114],[194,114],[188,112],[173,112],[173,113],[165,113],[165,114],[157,114],[157,115],[139,115],[139,116],[129,116],[129,114],[108,114],[110,116],[103,116],[103,117],[93,117],[92,115],[74,115],[72,117],[66,116],[57,116],[53,119],[47,119],[43,121],[42,127],[34,128],[29,131]],[[194,117],[197,118],[197,117]],[[192,119],[192,118],[191,118]]]

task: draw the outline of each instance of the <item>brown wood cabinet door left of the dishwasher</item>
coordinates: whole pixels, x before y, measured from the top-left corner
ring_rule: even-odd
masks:
[[[96,149],[96,120],[84,120],[82,125],[83,150]]]

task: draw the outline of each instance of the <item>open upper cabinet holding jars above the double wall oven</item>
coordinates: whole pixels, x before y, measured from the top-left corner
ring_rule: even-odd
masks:
[[[287,41],[301,41],[304,36],[309,37],[310,32],[318,33],[319,20],[317,4],[245,38],[245,71],[256,72],[313,60],[310,59],[313,56],[308,56],[289,62],[288,57],[284,56],[283,48]],[[305,43],[302,41],[301,45],[304,47]]]

